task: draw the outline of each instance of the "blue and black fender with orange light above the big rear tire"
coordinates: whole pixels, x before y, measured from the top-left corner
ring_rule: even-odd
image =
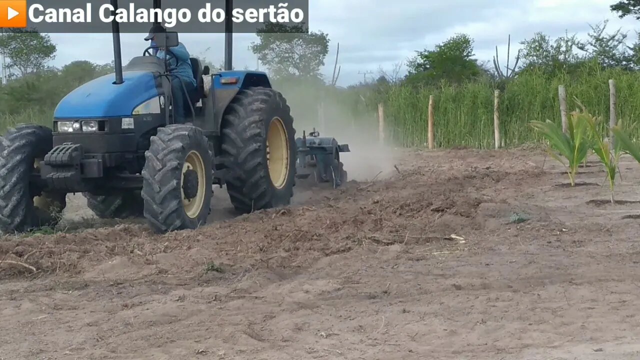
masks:
[[[204,130],[212,135],[220,135],[222,118],[227,111],[229,103],[236,97],[236,94],[245,88],[263,87],[271,88],[271,82],[265,72],[231,70],[221,71],[208,76],[211,80],[206,80],[205,95],[209,105],[205,119],[213,119],[212,122],[205,122]]]

